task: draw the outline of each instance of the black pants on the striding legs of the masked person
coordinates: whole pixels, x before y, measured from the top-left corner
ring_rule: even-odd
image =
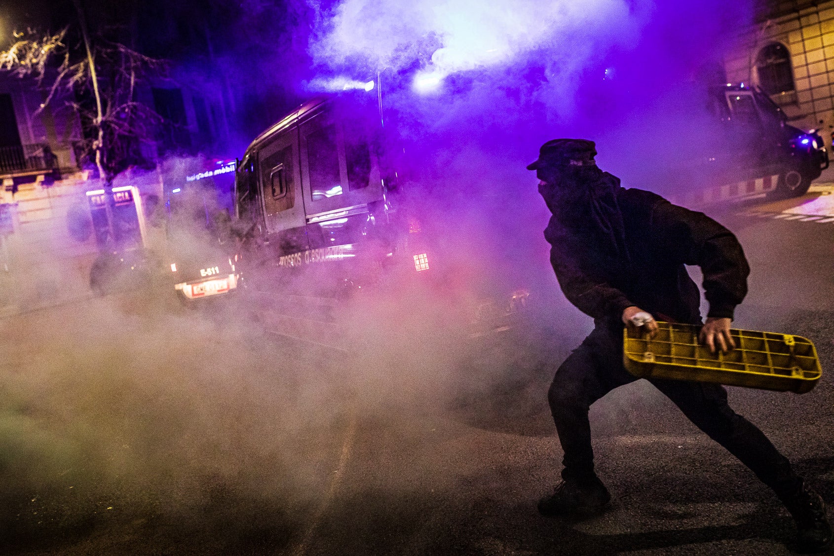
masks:
[[[590,446],[590,404],[614,388],[637,378],[622,363],[622,328],[595,328],[556,371],[548,399],[562,450],[563,478],[594,481],[594,453]],[[783,501],[801,488],[787,458],[755,425],[727,404],[719,384],[652,378],[687,418],[751,468]]]

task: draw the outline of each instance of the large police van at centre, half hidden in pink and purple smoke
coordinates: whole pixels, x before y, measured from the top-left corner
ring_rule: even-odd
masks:
[[[449,287],[452,257],[420,195],[399,183],[402,148],[386,133],[375,103],[315,98],[261,133],[239,161],[239,271],[270,332],[330,344],[340,298]],[[472,333],[509,328],[528,296],[512,288],[475,301]]]

